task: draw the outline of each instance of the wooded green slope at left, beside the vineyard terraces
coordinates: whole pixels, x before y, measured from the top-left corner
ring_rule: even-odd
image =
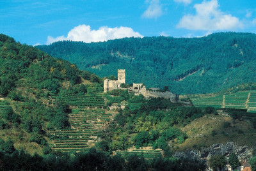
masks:
[[[70,101],[54,97],[102,91],[102,79],[95,74],[0,34],[0,151],[6,152],[5,140],[31,154],[49,152],[49,130],[70,128],[68,114],[72,113]],[[81,106],[97,107],[99,103],[90,103],[93,100],[85,99]]]

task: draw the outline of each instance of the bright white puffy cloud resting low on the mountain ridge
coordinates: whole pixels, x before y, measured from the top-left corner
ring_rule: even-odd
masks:
[[[47,37],[46,44],[49,45],[55,41],[61,40],[72,40],[72,41],[84,41],[86,43],[90,42],[99,42],[99,41],[107,41],[114,40],[116,38],[129,38],[129,37],[140,37],[143,36],[132,30],[130,27],[115,27],[110,28],[108,26],[100,27],[98,30],[92,30],[90,26],[86,26],[85,24],[74,27],[68,32],[67,37],[58,36],[57,38],[53,38],[52,36]]]

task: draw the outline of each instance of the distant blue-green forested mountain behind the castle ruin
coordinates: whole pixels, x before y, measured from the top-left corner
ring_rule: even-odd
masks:
[[[59,41],[38,46],[100,77],[125,68],[127,82],[179,94],[212,93],[256,81],[256,34],[215,33],[202,38],[123,38],[100,43]]]

